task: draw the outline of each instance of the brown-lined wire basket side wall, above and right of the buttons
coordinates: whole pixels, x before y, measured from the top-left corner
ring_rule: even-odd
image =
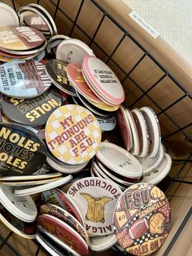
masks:
[[[162,140],[172,155],[172,170],[163,186],[168,194],[174,183],[190,183],[181,175],[191,164],[192,109],[189,88],[175,73],[147,51],[132,29],[111,15],[109,1],[95,0],[7,0],[17,10],[36,2],[50,12],[59,33],[87,43],[120,78],[128,108],[150,106],[159,118]],[[108,8],[106,8],[108,2]],[[114,11],[114,10],[113,10]],[[6,240],[5,240],[6,241]],[[19,254],[20,255],[20,254]]]

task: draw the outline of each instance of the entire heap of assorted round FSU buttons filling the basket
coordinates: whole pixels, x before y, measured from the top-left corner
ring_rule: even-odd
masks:
[[[124,108],[116,74],[46,9],[0,7],[2,223],[53,255],[155,251],[170,207],[154,184],[171,168],[155,113]],[[102,142],[116,120],[124,148]]]

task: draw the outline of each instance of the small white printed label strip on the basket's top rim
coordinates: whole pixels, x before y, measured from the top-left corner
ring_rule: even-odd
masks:
[[[159,33],[149,24],[144,20],[140,15],[137,14],[137,12],[132,11],[129,13],[129,16],[137,23],[139,24],[142,29],[145,29],[147,33],[151,34],[151,37],[153,38],[158,38]]]

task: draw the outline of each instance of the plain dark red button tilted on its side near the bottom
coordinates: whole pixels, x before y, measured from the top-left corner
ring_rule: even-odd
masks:
[[[78,254],[89,254],[88,245],[83,238],[59,218],[49,214],[42,214],[37,217],[37,223],[50,234],[57,236],[61,241],[72,247]]]

